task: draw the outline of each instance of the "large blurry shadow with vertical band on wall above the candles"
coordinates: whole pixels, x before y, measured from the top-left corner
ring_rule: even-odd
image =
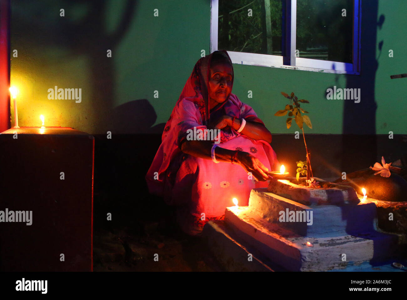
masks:
[[[111,1],[108,0],[19,0],[14,1],[12,5],[13,34],[22,36],[20,40],[24,41],[28,49],[32,49],[31,53],[43,53],[44,49],[53,47],[67,52],[67,55],[53,58],[61,62],[61,69],[65,67],[64,60],[79,56],[87,58],[92,107],[98,112],[94,118],[94,133],[106,132],[112,128],[109,120],[114,106],[116,76],[114,60],[107,58],[106,51],[110,49],[114,53],[125,37],[132,24],[138,1],[124,2],[120,21],[113,32],[107,32],[106,29],[109,3]],[[61,8],[65,9],[65,15],[73,12],[74,17],[61,18]]]

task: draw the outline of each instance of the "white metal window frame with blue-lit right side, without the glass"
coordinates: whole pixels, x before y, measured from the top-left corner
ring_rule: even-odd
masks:
[[[228,51],[234,64],[276,67],[304,71],[360,75],[361,58],[361,0],[353,1],[352,61],[334,62],[295,57],[297,0],[286,1],[286,38],[282,56]],[[210,53],[218,50],[219,0],[211,0]]]

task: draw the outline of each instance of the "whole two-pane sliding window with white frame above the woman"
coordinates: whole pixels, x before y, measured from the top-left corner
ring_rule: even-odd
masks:
[[[360,0],[212,0],[210,52],[233,63],[359,74]]]

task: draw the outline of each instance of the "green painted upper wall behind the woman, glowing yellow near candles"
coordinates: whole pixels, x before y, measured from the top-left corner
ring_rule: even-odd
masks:
[[[369,9],[368,2],[363,2],[363,10]],[[11,59],[11,85],[20,90],[20,126],[41,126],[39,115],[44,114],[46,126],[73,127],[92,134],[154,132],[148,127],[168,120],[201,49],[209,53],[210,0],[141,0],[133,6],[115,0],[100,1],[94,7],[86,1],[40,3],[12,2],[11,51],[17,49],[18,57]],[[64,17],[59,16],[61,8]],[[407,73],[405,0],[391,4],[380,0],[377,8],[377,20],[384,15],[385,21],[376,35],[375,130],[405,134],[407,78],[390,79],[392,74]],[[154,9],[159,10],[158,17],[153,16]],[[121,23],[126,16],[129,22]],[[372,38],[368,35],[375,32],[370,28],[376,27],[377,20],[364,16],[362,38]],[[107,49],[112,50],[112,58],[107,58]],[[393,58],[388,56],[389,49],[394,51]],[[362,60],[367,50],[373,49],[362,47]],[[370,63],[365,60],[362,67]],[[271,133],[296,130],[295,126],[288,130],[285,118],[274,116],[285,104],[281,91],[294,91],[311,102],[304,105],[313,123],[307,133],[342,133],[344,102],[352,100],[327,100],[325,91],[333,85],[345,88],[352,76],[240,64],[234,64],[234,71],[232,92],[254,108]],[[362,69],[359,82],[363,77],[371,80],[372,74]],[[48,100],[48,89],[55,85],[81,88],[81,103]],[[359,104],[366,101],[361,88]],[[159,98],[154,98],[155,90]],[[248,99],[249,90],[253,98]],[[147,121],[140,118],[145,109],[135,101],[140,99],[151,104],[156,120],[152,109],[145,113]],[[118,109],[120,106],[124,108]],[[363,124],[362,108],[351,106],[360,109],[358,122]]]

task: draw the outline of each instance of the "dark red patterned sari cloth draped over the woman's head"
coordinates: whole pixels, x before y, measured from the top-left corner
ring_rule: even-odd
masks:
[[[210,53],[208,56],[204,56],[198,60],[198,62],[195,64],[194,70],[189,76],[184,89],[181,92],[181,95],[179,96],[179,101],[181,101],[184,98],[191,98],[188,99],[190,101],[193,101],[195,104],[198,105],[199,111],[201,113],[202,121],[206,125],[207,121],[209,119],[209,94],[208,94],[208,89],[209,89],[209,78],[210,78],[210,65],[213,62],[217,61],[222,61],[225,60],[226,62],[230,63],[230,66],[232,67],[232,88],[233,88],[233,80],[234,80],[234,71],[233,71],[233,65],[232,65],[232,60],[229,57],[228,52],[226,50],[217,50],[212,53]],[[231,94],[232,92],[230,92]],[[220,109],[229,99],[226,98],[224,102],[222,102],[217,109]]]

